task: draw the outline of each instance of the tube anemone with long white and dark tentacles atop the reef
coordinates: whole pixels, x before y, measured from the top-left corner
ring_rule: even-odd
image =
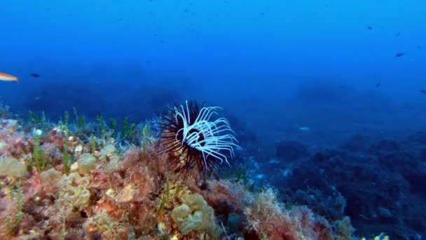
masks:
[[[238,141],[228,120],[214,118],[219,109],[195,101],[168,109],[158,126],[163,132],[160,153],[170,154],[170,166],[182,171],[195,167],[202,178],[224,163],[231,166],[228,160],[239,148]]]

